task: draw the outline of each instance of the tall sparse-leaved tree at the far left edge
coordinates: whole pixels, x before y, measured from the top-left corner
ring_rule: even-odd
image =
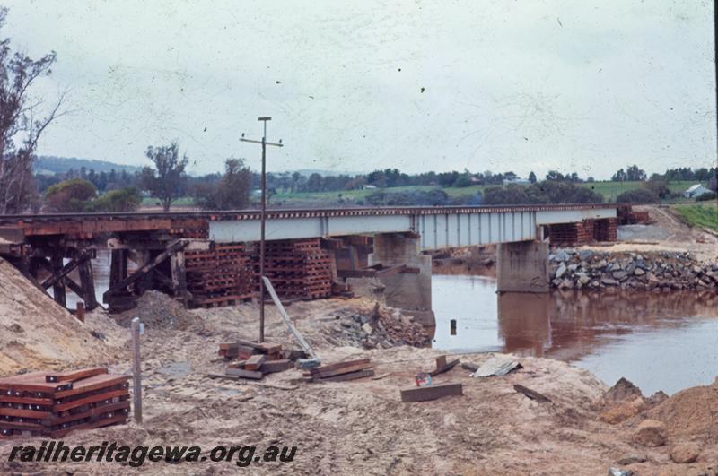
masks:
[[[7,9],[0,7],[0,28],[6,16]],[[31,99],[31,88],[50,74],[55,58],[53,51],[33,60],[13,53],[10,39],[0,39],[0,214],[21,212],[37,200],[32,162],[40,134],[61,115],[64,94],[47,117],[39,117],[40,102]]]

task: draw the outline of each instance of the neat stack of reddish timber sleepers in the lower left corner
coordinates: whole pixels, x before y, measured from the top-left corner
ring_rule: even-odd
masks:
[[[0,438],[57,438],[125,423],[128,379],[99,367],[0,378]]]

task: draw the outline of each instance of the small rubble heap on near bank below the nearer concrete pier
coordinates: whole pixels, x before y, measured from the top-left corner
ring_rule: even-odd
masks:
[[[397,310],[381,313],[374,307],[368,316],[351,314],[337,317],[341,319],[344,337],[365,349],[388,349],[396,345],[424,347],[429,343],[424,326]]]

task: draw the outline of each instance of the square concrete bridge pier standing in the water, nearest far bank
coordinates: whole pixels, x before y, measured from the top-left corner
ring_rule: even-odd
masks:
[[[500,244],[496,290],[548,292],[548,242],[518,241]]]

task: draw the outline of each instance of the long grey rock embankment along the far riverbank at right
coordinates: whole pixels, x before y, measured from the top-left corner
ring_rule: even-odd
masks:
[[[602,253],[557,248],[548,255],[558,289],[707,290],[718,288],[718,263],[700,264],[686,252]]]

